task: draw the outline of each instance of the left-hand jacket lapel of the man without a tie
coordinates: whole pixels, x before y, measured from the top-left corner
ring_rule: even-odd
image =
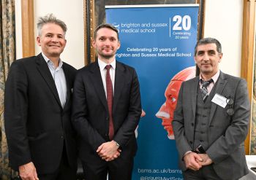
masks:
[[[37,70],[41,74],[42,78],[45,79],[46,84],[50,88],[50,91],[53,93],[54,98],[56,98],[56,101],[59,103],[59,106],[61,106],[61,101],[59,100],[59,95],[58,95],[58,91],[57,91],[55,82],[53,80],[52,75],[50,74],[48,65],[45,62],[45,59],[42,57],[41,53],[39,55],[37,55],[36,62],[37,62]]]

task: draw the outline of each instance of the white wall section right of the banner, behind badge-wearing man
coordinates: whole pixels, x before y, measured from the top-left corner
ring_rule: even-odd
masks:
[[[205,37],[214,37],[222,44],[220,69],[240,77],[243,1],[206,0]]]

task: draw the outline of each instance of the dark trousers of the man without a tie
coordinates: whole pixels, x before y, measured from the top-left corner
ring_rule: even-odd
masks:
[[[54,173],[38,174],[38,178],[39,180],[76,180],[76,173],[76,169],[69,166],[67,152],[64,148],[59,168]]]

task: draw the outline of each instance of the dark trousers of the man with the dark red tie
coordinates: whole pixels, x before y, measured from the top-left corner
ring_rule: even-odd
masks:
[[[86,180],[131,180],[133,157],[124,160],[121,156],[116,160],[105,162],[99,160],[97,162],[83,162],[83,173]]]

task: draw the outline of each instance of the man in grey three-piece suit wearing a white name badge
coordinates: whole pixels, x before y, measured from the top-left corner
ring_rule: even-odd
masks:
[[[182,83],[173,118],[180,168],[184,179],[237,180],[248,173],[246,81],[219,71],[217,39],[200,39],[194,58],[200,76]]]

